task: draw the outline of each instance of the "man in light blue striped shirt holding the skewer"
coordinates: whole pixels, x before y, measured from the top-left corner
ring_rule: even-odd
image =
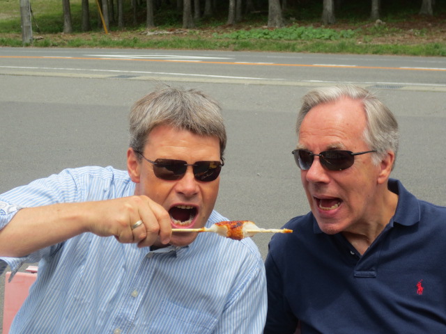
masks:
[[[0,196],[0,272],[39,262],[10,333],[261,333],[263,261],[251,239],[172,232],[213,210],[220,106],[164,87],[130,112],[128,171],[63,170]]]

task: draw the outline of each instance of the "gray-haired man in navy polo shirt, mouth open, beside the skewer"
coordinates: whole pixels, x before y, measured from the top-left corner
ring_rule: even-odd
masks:
[[[270,241],[263,333],[446,333],[446,208],[390,179],[390,110],[357,86],[317,88],[296,130],[311,212]]]

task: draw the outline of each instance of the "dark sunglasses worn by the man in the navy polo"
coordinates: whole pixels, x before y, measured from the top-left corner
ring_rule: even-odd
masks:
[[[293,150],[291,153],[294,155],[295,163],[298,164],[299,168],[302,170],[309,170],[313,164],[314,156],[318,156],[321,165],[328,170],[344,170],[353,166],[353,163],[355,162],[355,155],[371,152],[376,151],[373,150],[353,153],[351,151],[330,150],[315,154],[307,150]]]

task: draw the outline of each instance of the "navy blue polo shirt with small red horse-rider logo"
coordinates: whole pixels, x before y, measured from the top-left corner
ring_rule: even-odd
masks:
[[[362,256],[311,212],[272,237],[264,333],[446,333],[446,207],[389,189],[395,215]]]

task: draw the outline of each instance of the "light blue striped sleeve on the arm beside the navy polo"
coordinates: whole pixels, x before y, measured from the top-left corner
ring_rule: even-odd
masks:
[[[253,256],[255,256],[253,254]],[[245,269],[213,333],[262,333],[267,297],[265,267],[260,255],[247,257]]]

